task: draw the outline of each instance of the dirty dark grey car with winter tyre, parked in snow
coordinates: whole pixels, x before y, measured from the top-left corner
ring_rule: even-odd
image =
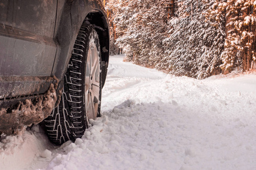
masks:
[[[57,145],[100,116],[109,22],[100,0],[0,2],[0,134],[41,124]]]

